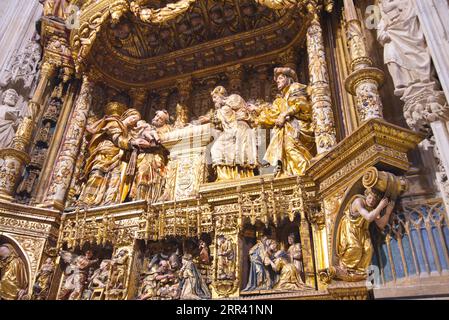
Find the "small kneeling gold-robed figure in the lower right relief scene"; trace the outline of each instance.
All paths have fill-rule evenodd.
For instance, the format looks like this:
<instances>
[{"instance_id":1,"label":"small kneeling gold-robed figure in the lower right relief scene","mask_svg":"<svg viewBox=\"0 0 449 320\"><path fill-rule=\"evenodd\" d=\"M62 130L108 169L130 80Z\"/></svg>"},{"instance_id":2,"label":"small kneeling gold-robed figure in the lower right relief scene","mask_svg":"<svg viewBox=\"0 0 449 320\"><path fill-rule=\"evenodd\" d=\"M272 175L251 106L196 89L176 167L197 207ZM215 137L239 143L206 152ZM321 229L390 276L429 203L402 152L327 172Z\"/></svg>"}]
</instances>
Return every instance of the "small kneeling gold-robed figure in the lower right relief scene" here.
<instances>
[{"instance_id":1,"label":"small kneeling gold-robed figure in the lower right relief scene","mask_svg":"<svg viewBox=\"0 0 449 320\"><path fill-rule=\"evenodd\" d=\"M274 290L311 289L302 282L300 274L287 252L279 250L274 255L274 261L269 260L269 262L277 274L276 284L273 286Z\"/></svg>"}]
</instances>

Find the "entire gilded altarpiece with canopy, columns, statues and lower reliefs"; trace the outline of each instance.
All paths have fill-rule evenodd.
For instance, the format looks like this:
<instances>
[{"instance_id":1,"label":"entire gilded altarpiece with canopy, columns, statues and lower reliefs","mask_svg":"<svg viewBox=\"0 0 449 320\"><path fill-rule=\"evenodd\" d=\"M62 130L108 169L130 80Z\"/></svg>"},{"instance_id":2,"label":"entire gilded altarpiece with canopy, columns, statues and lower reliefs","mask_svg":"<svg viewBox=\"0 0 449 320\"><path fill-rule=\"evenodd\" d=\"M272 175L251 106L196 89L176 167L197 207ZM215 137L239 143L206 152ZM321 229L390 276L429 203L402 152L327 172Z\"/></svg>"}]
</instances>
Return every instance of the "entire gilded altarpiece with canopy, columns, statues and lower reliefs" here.
<instances>
[{"instance_id":1,"label":"entire gilded altarpiece with canopy, columns, statues and lower reliefs","mask_svg":"<svg viewBox=\"0 0 449 320\"><path fill-rule=\"evenodd\" d=\"M39 85L0 152L20 298L368 299L447 280L442 200L408 188L425 137L383 118L353 1L74 0L74 29L44 2Z\"/></svg>"}]
</instances>

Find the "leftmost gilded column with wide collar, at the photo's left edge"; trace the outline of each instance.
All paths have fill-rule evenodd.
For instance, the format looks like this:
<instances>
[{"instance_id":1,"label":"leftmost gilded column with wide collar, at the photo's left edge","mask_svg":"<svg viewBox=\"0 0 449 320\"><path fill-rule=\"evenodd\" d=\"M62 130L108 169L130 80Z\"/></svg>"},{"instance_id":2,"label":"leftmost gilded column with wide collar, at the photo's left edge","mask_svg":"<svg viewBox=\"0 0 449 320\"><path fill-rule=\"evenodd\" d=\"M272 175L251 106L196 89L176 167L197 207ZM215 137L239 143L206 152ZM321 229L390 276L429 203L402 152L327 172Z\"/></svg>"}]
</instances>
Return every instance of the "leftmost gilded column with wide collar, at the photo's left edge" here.
<instances>
[{"instance_id":1,"label":"leftmost gilded column with wide collar, at the photo's left edge","mask_svg":"<svg viewBox=\"0 0 449 320\"><path fill-rule=\"evenodd\" d=\"M28 116L23 119L17 128L11 148L0 150L0 158L3 159L0 170L0 198L12 199L23 166L30 161L27 149L31 143L47 86L55 73L56 66L54 64L49 61L42 64L39 83L33 98L28 103Z\"/></svg>"}]
</instances>

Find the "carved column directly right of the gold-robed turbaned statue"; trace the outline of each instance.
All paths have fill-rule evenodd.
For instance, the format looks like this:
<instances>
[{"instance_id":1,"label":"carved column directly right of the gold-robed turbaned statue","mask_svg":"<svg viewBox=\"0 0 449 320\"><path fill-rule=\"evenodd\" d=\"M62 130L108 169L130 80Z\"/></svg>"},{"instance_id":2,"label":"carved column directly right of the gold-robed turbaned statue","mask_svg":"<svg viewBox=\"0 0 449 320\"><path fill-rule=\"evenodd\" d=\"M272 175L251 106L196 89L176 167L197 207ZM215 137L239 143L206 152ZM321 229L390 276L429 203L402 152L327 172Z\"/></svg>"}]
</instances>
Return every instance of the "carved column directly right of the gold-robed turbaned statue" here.
<instances>
[{"instance_id":1,"label":"carved column directly right of the gold-robed turbaned statue","mask_svg":"<svg viewBox=\"0 0 449 320\"><path fill-rule=\"evenodd\" d=\"M315 125L317 154L321 155L337 144L337 136L323 44L323 30L318 16L319 11L314 6L309 6L308 10L313 14L312 22L307 30L312 115Z\"/></svg>"}]
</instances>

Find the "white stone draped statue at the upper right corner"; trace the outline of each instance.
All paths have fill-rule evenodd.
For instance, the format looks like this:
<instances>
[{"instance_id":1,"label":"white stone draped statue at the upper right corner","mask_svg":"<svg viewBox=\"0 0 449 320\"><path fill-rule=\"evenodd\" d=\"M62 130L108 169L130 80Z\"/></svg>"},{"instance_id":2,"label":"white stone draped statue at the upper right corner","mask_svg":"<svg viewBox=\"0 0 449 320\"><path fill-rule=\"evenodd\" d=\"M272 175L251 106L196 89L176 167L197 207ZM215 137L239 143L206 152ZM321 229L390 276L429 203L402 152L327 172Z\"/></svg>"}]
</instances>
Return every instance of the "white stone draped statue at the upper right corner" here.
<instances>
[{"instance_id":1,"label":"white stone draped statue at the upper right corner","mask_svg":"<svg viewBox=\"0 0 449 320\"><path fill-rule=\"evenodd\" d=\"M431 58L415 6L410 0L382 0L377 38L393 78L395 94L410 85L431 82Z\"/></svg>"}]
</instances>

